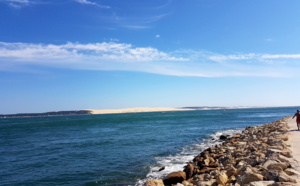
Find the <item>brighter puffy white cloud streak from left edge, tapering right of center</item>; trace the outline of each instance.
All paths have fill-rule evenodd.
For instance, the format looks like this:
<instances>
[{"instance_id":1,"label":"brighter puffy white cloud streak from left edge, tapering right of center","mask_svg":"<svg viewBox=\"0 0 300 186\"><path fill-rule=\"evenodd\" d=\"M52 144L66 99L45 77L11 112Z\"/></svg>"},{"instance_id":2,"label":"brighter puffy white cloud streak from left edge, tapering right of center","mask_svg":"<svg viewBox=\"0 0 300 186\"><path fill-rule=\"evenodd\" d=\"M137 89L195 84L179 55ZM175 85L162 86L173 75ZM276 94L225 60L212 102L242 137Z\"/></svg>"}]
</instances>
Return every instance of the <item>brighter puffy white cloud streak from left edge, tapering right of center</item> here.
<instances>
[{"instance_id":1,"label":"brighter puffy white cloud streak from left edge, tapering right of center","mask_svg":"<svg viewBox=\"0 0 300 186\"><path fill-rule=\"evenodd\" d=\"M157 60L184 61L184 58L176 58L155 48L132 47L124 43L67 43L63 45L43 45L28 43L0 42L0 57L15 61L40 61L60 58L68 61L78 61L82 58L95 60L114 60L118 62L141 62Z\"/></svg>"}]
</instances>

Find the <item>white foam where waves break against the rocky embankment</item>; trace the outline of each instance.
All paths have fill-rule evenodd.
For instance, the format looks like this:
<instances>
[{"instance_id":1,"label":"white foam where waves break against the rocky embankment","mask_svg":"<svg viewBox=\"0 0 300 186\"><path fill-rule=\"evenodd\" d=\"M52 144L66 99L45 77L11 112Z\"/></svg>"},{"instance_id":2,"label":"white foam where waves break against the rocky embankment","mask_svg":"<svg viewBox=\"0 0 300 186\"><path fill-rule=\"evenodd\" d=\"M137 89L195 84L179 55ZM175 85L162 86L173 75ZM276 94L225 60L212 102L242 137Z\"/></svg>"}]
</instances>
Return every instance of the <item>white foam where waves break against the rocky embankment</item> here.
<instances>
[{"instance_id":1,"label":"white foam where waves break against the rocky embankment","mask_svg":"<svg viewBox=\"0 0 300 186\"><path fill-rule=\"evenodd\" d=\"M215 134L209 135L209 139L202 139L201 143L194 143L183 147L182 150L175 155L156 157L156 164L150 166L150 172L146 175L146 178L138 180L135 186L143 185L147 180L162 179L171 172L182 171L186 163L192 161L194 157L199 155L202 151L221 144L223 142L219 140L221 135L233 136L241 131L242 129L218 131ZM198 141L200 140L198 139ZM165 169L158 171L163 166L165 166Z\"/></svg>"}]
</instances>

